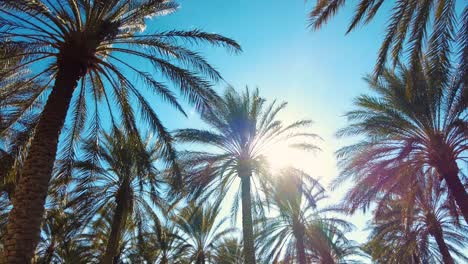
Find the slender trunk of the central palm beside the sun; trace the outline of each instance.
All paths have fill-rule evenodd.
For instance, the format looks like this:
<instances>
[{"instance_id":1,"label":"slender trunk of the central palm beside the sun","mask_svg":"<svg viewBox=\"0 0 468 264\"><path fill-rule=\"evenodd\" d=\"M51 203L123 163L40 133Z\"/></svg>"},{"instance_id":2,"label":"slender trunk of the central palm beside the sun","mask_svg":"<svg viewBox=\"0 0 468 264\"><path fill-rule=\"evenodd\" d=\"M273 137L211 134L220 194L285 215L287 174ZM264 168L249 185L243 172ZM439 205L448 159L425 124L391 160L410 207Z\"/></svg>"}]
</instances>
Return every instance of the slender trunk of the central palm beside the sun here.
<instances>
[{"instance_id":1,"label":"slender trunk of the central palm beside the sun","mask_svg":"<svg viewBox=\"0 0 468 264\"><path fill-rule=\"evenodd\" d=\"M250 194L250 170L240 170L242 195L242 232L244 238L244 263L255 264L255 247L252 224L252 198Z\"/></svg>"}]
</instances>

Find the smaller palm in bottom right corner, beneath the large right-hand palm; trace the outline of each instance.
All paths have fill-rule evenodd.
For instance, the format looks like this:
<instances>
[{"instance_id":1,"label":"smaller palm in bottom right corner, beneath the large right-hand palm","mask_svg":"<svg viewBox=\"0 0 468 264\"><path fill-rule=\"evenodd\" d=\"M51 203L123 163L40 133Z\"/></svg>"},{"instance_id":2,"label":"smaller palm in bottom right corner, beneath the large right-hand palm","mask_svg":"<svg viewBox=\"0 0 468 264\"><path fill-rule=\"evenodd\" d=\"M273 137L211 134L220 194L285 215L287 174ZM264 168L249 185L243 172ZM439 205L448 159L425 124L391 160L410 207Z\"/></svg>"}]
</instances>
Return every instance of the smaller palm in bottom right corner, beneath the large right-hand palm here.
<instances>
[{"instance_id":1,"label":"smaller palm in bottom right corner, beneath the large right-hand palm","mask_svg":"<svg viewBox=\"0 0 468 264\"><path fill-rule=\"evenodd\" d=\"M453 201L447 199L446 187L437 175L420 172L415 178L406 178L374 198L373 234L367 245L371 255L383 262L407 259L410 263L417 259L423 263L455 263L452 255L465 260L462 250L467 225L460 221ZM372 191L364 185L352 189L358 188Z\"/></svg>"}]
</instances>

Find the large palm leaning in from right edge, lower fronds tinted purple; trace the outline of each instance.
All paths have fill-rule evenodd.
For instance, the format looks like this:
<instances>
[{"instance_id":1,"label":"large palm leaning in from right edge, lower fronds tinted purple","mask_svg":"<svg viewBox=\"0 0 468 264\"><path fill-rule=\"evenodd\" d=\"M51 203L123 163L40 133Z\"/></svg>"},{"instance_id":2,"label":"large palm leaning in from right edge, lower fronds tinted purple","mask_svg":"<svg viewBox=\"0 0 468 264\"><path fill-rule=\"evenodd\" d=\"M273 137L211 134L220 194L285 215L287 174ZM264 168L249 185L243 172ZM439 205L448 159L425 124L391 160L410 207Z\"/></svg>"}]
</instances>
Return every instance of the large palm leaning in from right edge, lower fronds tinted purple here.
<instances>
[{"instance_id":1,"label":"large palm leaning in from right edge, lower fronds tinted purple","mask_svg":"<svg viewBox=\"0 0 468 264\"><path fill-rule=\"evenodd\" d=\"M356 109L346 114L351 124L338 132L364 136L337 152L342 172L336 183L353 179L358 186L370 187L367 193L348 193L350 211L367 207L369 203L360 200L372 201L380 191L392 190L422 170L445 181L468 219L468 194L459 169L467 161L466 93L459 84L438 77L425 67L413 83L410 71L401 66L399 71L386 70L380 80L367 79L375 95L358 97Z\"/></svg>"}]
</instances>

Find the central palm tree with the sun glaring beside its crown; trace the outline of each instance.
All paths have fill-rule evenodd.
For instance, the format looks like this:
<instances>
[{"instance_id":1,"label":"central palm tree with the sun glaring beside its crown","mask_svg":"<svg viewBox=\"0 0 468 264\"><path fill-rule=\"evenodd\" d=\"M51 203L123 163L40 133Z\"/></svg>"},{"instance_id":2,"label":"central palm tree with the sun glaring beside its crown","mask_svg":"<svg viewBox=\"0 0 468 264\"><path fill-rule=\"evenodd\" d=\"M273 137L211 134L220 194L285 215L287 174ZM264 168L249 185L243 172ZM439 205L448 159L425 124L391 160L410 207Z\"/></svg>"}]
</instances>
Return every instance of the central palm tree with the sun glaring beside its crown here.
<instances>
[{"instance_id":1,"label":"central palm tree with the sun glaring beside its crown","mask_svg":"<svg viewBox=\"0 0 468 264\"><path fill-rule=\"evenodd\" d=\"M246 88L244 93L239 94L233 88L228 88L212 111L202 116L211 130L182 129L176 133L182 142L200 143L213 149L211 153L188 154L190 173L187 179L193 186L192 190L206 191L211 188L225 195L236 176L239 177L246 264L255 263L251 182L263 182L260 175L265 171L266 164L262 154L280 141L316 137L315 134L299 131L311 124L309 120L296 121L290 125L284 125L278 120L277 114L285 107L286 103L277 105L276 101L265 106L258 89L251 92ZM309 142L290 142L293 147L316 149Z\"/></svg>"}]
</instances>

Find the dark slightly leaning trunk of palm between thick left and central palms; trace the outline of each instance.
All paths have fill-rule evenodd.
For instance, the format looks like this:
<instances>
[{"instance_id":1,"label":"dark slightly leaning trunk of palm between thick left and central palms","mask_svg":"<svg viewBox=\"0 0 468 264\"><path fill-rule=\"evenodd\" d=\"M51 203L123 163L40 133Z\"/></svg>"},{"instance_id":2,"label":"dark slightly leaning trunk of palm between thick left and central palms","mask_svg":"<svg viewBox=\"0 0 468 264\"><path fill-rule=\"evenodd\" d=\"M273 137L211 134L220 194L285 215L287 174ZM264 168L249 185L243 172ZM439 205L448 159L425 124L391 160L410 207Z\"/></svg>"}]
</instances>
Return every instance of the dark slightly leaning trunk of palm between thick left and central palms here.
<instances>
[{"instance_id":1,"label":"dark slightly leaning trunk of palm between thick left and central palms","mask_svg":"<svg viewBox=\"0 0 468 264\"><path fill-rule=\"evenodd\" d=\"M106 252L102 259L103 264L113 264L119 255L119 242L122 236L122 230L125 228L129 210L130 185L126 178L117 192L114 216L112 217L111 233L107 241Z\"/></svg>"}]
</instances>

